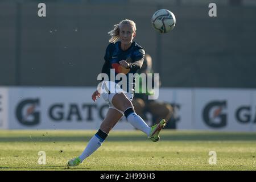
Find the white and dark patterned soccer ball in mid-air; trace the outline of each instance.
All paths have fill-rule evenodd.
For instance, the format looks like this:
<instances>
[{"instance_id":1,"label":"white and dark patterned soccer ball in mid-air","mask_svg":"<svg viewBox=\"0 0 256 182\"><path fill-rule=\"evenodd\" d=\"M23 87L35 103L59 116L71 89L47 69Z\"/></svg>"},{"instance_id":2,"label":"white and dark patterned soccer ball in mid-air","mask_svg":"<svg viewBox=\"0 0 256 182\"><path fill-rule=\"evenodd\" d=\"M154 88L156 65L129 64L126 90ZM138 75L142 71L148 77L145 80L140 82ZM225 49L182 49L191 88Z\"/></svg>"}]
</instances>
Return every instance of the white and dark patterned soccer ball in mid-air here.
<instances>
[{"instance_id":1,"label":"white and dark patterned soccer ball in mid-air","mask_svg":"<svg viewBox=\"0 0 256 182\"><path fill-rule=\"evenodd\" d=\"M176 18L171 11L162 9L154 13L151 22L155 30L163 34L174 29Z\"/></svg>"}]
</instances>

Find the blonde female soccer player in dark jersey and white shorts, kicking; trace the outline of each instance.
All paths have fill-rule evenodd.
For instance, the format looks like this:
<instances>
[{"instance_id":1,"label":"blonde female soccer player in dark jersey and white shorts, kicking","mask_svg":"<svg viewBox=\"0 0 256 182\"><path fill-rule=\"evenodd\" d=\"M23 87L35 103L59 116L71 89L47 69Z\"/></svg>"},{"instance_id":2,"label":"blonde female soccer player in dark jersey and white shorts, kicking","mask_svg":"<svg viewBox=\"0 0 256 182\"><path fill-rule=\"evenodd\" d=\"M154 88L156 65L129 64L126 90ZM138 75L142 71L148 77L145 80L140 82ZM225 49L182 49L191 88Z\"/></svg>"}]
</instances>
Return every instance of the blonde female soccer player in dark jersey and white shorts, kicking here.
<instances>
[{"instance_id":1,"label":"blonde female soccer player in dark jersey and white shorts, kicking","mask_svg":"<svg viewBox=\"0 0 256 182\"><path fill-rule=\"evenodd\" d=\"M97 89L92 94L92 100L96 101L97 97L102 95L104 100L109 104L108 113L101 123L98 132L90 139L84 152L79 157L69 160L69 166L79 165L84 159L96 151L106 137L108 137L109 131L112 130L123 114L131 125L143 131L153 142L159 140L159 132L166 125L166 121L162 119L158 125L149 127L135 113L131 102L133 100L135 78L133 77L133 80L129 80L128 74L136 73L138 69L141 69L145 55L144 49L133 42L136 35L135 23L128 19L122 20L119 24L115 24L114 29L108 32L108 34L111 38L109 40L110 44L106 48L102 73L106 73L109 78L113 70L115 75L118 73L126 75L127 88L129 89L123 90L121 86L117 85L120 80L104 80L101 82L102 85L100 88L105 92L102 93L101 90Z\"/></svg>"}]
</instances>

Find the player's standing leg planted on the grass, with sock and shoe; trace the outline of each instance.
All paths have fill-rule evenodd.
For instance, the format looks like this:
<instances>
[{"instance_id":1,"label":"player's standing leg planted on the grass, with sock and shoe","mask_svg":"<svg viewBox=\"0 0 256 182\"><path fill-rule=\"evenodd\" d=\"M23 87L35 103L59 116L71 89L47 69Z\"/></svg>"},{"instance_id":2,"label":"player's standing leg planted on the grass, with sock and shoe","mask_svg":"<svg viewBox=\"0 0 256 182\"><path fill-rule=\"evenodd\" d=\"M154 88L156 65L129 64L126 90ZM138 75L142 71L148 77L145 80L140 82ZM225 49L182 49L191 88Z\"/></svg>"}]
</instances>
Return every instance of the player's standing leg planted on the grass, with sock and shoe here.
<instances>
[{"instance_id":1,"label":"player's standing leg planted on the grass, with sock and shoe","mask_svg":"<svg viewBox=\"0 0 256 182\"><path fill-rule=\"evenodd\" d=\"M84 152L79 157L69 160L68 166L78 166L84 159L93 154L101 146L106 137L108 137L109 131L112 130L122 116L122 113L110 108L106 114L106 118L101 123L100 130L90 139Z\"/></svg>"}]
</instances>

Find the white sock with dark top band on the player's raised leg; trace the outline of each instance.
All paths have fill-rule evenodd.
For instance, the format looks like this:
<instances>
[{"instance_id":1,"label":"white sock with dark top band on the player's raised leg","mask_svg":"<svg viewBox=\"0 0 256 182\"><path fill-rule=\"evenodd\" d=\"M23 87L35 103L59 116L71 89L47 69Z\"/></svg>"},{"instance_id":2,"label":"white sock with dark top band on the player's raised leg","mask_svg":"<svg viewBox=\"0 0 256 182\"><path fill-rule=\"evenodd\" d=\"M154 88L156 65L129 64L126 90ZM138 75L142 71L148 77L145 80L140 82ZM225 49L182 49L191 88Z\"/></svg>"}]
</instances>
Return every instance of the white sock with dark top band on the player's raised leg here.
<instances>
[{"instance_id":1,"label":"white sock with dark top band on the player's raised leg","mask_svg":"<svg viewBox=\"0 0 256 182\"><path fill-rule=\"evenodd\" d=\"M143 131L147 135L147 137L149 137L151 127L149 127L147 123L144 122L143 119L138 114L135 113L132 107L126 109L125 111L129 109L130 109L129 114L125 113L126 115L128 115L128 117L126 117L128 122L131 123L131 125L133 125L138 130ZM133 109L133 111L131 111L131 109Z\"/></svg>"}]
</instances>

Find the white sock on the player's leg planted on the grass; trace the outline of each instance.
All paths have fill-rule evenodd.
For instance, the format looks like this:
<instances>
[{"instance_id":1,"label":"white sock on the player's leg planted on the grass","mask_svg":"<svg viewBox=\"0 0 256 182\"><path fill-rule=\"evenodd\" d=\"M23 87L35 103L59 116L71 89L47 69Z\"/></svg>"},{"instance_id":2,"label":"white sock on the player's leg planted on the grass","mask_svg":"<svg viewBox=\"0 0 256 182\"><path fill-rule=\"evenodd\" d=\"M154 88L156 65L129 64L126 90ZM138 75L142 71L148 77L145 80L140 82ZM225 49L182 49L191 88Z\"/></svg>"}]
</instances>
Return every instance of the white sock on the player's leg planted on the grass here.
<instances>
[{"instance_id":1,"label":"white sock on the player's leg planted on the grass","mask_svg":"<svg viewBox=\"0 0 256 182\"><path fill-rule=\"evenodd\" d=\"M88 158L93 152L95 152L98 147L104 142L105 139L100 138L97 134L95 134L89 141L88 145L86 146L85 150L79 156L81 162Z\"/></svg>"}]
</instances>

